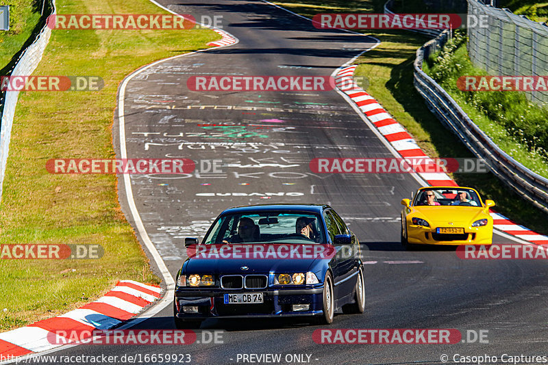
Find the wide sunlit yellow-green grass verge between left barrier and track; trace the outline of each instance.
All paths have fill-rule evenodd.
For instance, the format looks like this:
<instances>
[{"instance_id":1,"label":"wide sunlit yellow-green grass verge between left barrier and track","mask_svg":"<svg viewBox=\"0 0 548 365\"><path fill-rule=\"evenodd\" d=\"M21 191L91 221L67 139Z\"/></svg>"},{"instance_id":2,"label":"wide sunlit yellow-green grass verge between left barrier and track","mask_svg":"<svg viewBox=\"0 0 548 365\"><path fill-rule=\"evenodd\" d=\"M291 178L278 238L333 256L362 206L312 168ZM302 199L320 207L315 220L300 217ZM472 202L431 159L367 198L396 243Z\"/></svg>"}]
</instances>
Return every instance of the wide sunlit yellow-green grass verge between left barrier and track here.
<instances>
[{"instance_id":1,"label":"wide sunlit yellow-green grass verge between left barrier and track","mask_svg":"<svg viewBox=\"0 0 548 365\"><path fill-rule=\"evenodd\" d=\"M59 14L163 14L146 0L58 0ZM118 280L158 283L121 213L112 175L52 175L52 158L114 157L123 78L157 59L208 48L192 30L53 30L34 75L92 75L99 92L21 92L0 203L0 244L99 244L99 260L1 260L0 331L67 312ZM5 311L3 309L6 308Z\"/></svg>"}]
</instances>

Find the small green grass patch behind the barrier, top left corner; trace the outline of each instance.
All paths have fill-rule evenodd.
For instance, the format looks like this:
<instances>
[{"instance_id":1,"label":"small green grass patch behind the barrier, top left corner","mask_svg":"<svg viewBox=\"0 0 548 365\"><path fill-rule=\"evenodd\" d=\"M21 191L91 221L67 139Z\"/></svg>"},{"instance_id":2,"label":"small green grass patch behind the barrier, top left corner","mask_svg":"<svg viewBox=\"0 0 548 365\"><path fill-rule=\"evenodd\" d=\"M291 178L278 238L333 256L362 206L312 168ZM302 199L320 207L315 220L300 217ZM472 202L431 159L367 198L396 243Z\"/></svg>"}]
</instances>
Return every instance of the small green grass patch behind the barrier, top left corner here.
<instances>
[{"instance_id":1,"label":"small green grass patch behind the barrier, top left corner","mask_svg":"<svg viewBox=\"0 0 548 365\"><path fill-rule=\"evenodd\" d=\"M41 1L5 0L1 5L10 5L10 30L0 31L0 70L3 70L35 30L40 21Z\"/></svg>"}]
</instances>

